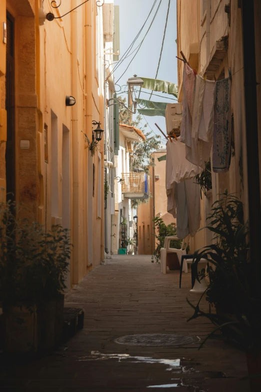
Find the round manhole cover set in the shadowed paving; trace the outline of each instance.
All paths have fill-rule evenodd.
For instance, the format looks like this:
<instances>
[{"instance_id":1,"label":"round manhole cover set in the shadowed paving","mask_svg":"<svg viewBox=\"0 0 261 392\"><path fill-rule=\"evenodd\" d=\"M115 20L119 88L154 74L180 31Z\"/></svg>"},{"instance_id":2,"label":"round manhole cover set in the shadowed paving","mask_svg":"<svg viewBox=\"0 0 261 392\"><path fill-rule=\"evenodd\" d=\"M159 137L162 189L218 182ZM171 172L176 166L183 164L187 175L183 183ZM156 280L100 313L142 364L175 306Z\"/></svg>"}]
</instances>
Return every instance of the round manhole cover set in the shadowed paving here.
<instances>
[{"instance_id":1,"label":"round manhole cover set in the shadowed paving","mask_svg":"<svg viewBox=\"0 0 261 392\"><path fill-rule=\"evenodd\" d=\"M142 333L121 336L114 341L119 344L127 344L130 346L176 347L197 343L199 340L198 336L172 335L170 333Z\"/></svg>"}]
</instances>

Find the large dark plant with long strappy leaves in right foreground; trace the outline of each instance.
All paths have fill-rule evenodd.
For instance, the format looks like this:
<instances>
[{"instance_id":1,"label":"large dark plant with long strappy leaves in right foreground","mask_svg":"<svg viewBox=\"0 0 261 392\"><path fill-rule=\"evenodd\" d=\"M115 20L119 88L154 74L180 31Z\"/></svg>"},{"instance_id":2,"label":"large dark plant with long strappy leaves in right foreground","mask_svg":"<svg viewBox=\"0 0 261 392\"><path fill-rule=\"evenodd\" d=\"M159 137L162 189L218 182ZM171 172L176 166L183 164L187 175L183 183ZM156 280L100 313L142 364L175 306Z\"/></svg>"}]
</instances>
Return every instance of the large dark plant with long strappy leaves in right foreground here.
<instances>
[{"instance_id":1,"label":"large dark plant with long strappy leaves in right foreground","mask_svg":"<svg viewBox=\"0 0 261 392\"><path fill-rule=\"evenodd\" d=\"M194 309L190 319L207 317L213 322L215 328L206 339L226 338L244 350L260 350L261 295L248 259L248 224L243 221L243 204L225 191L213 204L208 220L207 228L215 234L216 243L197 250L191 268L199 280L197 263L202 257L207 259L206 300L216 306L217 314L199 309L202 295L196 306L188 301Z\"/></svg>"}]
</instances>

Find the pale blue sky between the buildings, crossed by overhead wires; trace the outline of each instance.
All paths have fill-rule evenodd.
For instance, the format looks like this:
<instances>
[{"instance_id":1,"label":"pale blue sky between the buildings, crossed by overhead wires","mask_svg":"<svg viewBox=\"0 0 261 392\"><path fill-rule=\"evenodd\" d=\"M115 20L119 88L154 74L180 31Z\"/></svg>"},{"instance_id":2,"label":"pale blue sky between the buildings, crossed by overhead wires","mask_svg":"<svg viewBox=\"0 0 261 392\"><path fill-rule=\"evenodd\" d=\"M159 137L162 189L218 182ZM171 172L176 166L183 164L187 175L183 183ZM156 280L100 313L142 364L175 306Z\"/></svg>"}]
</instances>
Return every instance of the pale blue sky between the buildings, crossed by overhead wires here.
<instances>
[{"instance_id":1,"label":"pale blue sky between the buildings, crossed by overhead wires","mask_svg":"<svg viewBox=\"0 0 261 392\"><path fill-rule=\"evenodd\" d=\"M156 12L157 6L160 0L156 0L156 4L152 10L152 13L143 27L137 41L135 42L131 52L138 46L138 44L144 38L146 31L153 19ZM114 0L114 5L119 6L119 31L120 31L120 56L125 53L129 45L132 43L133 39L138 34L142 25L144 24L149 11L154 3L154 0ZM117 84L123 86L126 84L128 78L131 78L134 74L143 78L155 78L157 64L160 55L160 49L162 45L166 15L167 15L168 0L161 0L158 13L154 19L154 22L149 29L137 55L129 65L127 71L123 76L123 72L127 68L129 62L134 56L135 52L126 58L114 71L115 82L119 79ZM163 51L161 55L161 61L159 65L159 70L157 74L157 79L165 80L168 82L173 82L177 84L177 67L176 67L176 0L170 0L168 21L163 45ZM130 52L130 53L131 53ZM117 63L115 63L114 67ZM116 86L119 89L119 86ZM150 90L144 90L144 92L149 93ZM171 95L162 94L156 92L155 94L162 96L151 97L151 101L174 103L175 101L167 99L174 98ZM121 94L122 97L127 98L127 94ZM140 98L149 99L149 94L142 93ZM134 118L134 116L133 116ZM165 118L162 116L148 117L145 116L145 120L148 122L149 126L152 128L153 132L157 135L162 135L154 125L157 123L158 126L165 132ZM146 123L143 119L143 125ZM150 130L147 126L146 131ZM164 138L162 137L162 143Z\"/></svg>"}]
</instances>

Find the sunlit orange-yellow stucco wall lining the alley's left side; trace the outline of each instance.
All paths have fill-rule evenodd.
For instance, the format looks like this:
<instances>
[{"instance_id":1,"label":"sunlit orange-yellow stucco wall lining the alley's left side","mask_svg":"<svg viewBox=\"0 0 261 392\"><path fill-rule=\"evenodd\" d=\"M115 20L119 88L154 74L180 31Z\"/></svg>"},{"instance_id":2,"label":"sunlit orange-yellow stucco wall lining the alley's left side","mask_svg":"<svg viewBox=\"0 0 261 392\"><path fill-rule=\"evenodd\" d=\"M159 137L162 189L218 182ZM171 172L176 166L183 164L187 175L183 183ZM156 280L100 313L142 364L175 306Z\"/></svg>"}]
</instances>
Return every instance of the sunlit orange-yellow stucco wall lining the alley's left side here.
<instances>
[{"instance_id":1,"label":"sunlit orange-yellow stucco wall lining the alley's left side","mask_svg":"<svg viewBox=\"0 0 261 392\"><path fill-rule=\"evenodd\" d=\"M55 10L50 3L44 2L44 11L55 17L78 5L76 0L61 2ZM102 9L89 0L63 18L39 26L40 4L39 0L0 2L0 22L5 21L7 9L15 27L15 199L47 229L54 223L71 230L67 281L71 286L104 254L103 140L92 158L84 137L85 133L91 140L92 120L103 127ZM5 185L5 50L0 39L0 189ZM73 107L65 106L67 95L74 96ZM20 149L21 140L29 141L29 149Z\"/></svg>"}]
</instances>

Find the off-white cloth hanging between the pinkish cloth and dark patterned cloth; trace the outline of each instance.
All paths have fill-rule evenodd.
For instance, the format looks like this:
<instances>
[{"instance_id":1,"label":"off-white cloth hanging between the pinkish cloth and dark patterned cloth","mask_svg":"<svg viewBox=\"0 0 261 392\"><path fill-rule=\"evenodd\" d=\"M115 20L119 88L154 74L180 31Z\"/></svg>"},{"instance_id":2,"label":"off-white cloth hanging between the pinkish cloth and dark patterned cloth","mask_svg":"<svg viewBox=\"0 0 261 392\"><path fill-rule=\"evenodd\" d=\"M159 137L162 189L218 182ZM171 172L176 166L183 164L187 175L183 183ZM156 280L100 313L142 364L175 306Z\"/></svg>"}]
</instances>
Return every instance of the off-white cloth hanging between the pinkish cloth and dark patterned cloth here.
<instances>
[{"instance_id":1,"label":"off-white cloth hanging between the pinkish cloth and dark patterned cloth","mask_svg":"<svg viewBox=\"0 0 261 392\"><path fill-rule=\"evenodd\" d=\"M191 146L186 146L186 159L201 170L209 160L212 147L214 94L215 82L196 75Z\"/></svg>"}]
</instances>

